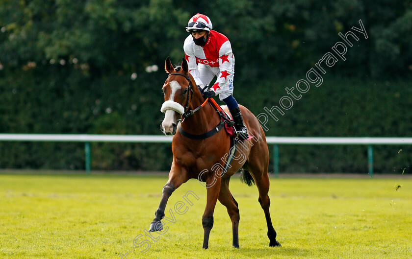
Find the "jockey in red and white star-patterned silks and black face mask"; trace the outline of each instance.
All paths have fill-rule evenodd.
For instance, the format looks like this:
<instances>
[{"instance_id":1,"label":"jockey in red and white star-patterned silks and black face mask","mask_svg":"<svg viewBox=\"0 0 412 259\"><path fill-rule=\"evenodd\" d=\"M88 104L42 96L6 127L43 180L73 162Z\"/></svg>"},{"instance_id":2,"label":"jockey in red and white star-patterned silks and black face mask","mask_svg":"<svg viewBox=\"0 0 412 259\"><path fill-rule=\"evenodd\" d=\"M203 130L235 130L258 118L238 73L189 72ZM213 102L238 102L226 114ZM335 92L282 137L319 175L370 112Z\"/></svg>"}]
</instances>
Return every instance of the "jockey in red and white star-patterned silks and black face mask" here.
<instances>
[{"instance_id":1,"label":"jockey in red and white star-patterned silks and black face mask","mask_svg":"<svg viewBox=\"0 0 412 259\"><path fill-rule=\"evenodd\" d=\"M231 43L225 35L212 30L212 22L203 14L190 18L184 41L184 56L195 82L202 89L216 76L216 83L203 94L206 99L219 95L228 106L236 133L241 140L248 139L248 131L233 94L234 56Z\"/></svg>"}]
</instances>

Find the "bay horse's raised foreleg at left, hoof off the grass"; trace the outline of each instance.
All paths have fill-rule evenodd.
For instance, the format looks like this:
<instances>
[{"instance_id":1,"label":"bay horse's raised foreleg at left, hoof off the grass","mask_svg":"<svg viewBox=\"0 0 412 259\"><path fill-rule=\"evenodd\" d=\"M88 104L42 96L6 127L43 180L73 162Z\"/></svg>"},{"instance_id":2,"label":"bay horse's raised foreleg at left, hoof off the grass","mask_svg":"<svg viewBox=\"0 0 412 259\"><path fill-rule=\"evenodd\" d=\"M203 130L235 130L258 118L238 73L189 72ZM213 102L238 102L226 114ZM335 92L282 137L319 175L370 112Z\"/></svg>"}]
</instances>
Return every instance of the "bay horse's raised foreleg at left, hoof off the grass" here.
<instances>
[{"instance_id":1,"label":"bay horse's raised foreleg at left, hoof off the grass","mask_svg":"<svg viewBox=\"0 0 412 259\"><path fill-rule=\"evenodd\" d=\"M181 184L187 182L187 180L188 177L186 169L175 165L175 163L172 163L172 168L169 172L169 180L163 187L160 204L156 212L154 212L154 219L150 224L149 232L161 231L163 229L163 225L160 220L164 217L167 200L169 199L170 195L172 195L173 191L177 189Z\"/></svg>"}]
</instances>

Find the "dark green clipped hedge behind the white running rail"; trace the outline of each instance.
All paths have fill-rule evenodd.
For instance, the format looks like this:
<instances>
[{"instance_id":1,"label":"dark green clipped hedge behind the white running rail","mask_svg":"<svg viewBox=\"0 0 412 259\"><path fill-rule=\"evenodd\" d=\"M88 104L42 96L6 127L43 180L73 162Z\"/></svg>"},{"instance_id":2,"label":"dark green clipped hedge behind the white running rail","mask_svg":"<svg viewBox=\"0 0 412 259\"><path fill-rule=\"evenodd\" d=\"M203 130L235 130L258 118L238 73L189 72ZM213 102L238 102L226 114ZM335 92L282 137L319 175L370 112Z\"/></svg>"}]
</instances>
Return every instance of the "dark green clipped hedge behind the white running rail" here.
<instances>
[{"instance_id":1,"label":"dark green clipped hedge behind the white running rail","mask_svg":"<svg viewBox=\"0 0 412 259\"><path fill-rule=\"evenodd\" d=\"M0 79L1 132L161 134L160 86L165 73L134 81L112 76L90 82L78 74L60 82L53 78L52 74L24 72ZM265 113L264 107L279 106L279 100L287 95L285 88L301 79L276 78L253 85L235 80L234 96L255 115ZM310 85L283 116L277 114L278 121L269 117L266 135L410 137L411 94L410 82L405 79L381 81L326 74L319 87ZM366 146L281 145L279 150L281 172L367 171ZM375 171L400 173L406 168L405 173L410 172L411 151L409 146L375 146ZM92 144L93 169L168 170L171 156L170 144ZM0 158L1 168L83 169L84 146L1 142ZM272 165L269 170L273 170Z\"/></svg>"}]
</instances>

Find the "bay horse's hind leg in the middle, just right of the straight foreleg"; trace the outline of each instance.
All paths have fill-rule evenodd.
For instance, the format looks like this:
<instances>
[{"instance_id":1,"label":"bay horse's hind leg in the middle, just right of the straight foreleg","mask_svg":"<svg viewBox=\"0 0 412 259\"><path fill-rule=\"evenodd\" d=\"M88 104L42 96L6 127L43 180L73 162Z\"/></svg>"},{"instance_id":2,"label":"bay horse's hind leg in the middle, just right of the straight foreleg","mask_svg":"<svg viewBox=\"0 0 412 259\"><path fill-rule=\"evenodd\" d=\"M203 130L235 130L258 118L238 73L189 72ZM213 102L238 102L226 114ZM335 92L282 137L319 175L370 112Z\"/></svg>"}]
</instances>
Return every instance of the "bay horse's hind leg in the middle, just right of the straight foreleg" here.
<instances>
[{"instance_id":1,"label":"bay horse's hind leg in the middle, just right of the straight foreleg","mask_svg":"<svg viewBox=\"0 0 412 259\"><path fill-rule=\"evenodd\" d=\"M218 199L220 203L228 209L228 214L232 221L232 246L239 248L239 208L237 206L237 202L232 196L231 191L229 190L229 181L230 178L222 179Z\"/></svg>"}]
</instances>

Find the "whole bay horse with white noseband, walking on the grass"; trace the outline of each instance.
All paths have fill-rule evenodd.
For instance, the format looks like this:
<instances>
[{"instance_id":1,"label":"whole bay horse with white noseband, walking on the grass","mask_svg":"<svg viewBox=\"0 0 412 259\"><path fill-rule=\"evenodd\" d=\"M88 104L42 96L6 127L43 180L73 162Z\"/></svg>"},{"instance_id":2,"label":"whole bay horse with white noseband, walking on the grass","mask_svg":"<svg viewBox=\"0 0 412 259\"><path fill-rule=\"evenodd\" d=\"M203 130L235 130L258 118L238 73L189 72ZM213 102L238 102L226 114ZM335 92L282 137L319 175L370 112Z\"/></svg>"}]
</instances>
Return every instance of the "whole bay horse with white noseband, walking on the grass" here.
<instances>
[{"instance_id":1,"label":"whole bay horse with white noseband, walking on the grass","mask_svg":"<svg viewBox=\"0 0 412 259\"><path fill-rule=\"evenodd\" d=\"M232 246L239 248L239 208L229 190L229 181L231 176L242 168L245 182L249 186L254 182L258 187L258 201L266 218L269 246L280 246L281 244L276 240L276 231L269 213L269 177L267 174L269 150L265 134L257 118L248 109L239 105L249 135L254 138L239 141L232 162L228 170L224 172L223 167L226 163L223 158L229 154L231 139L225 130L214 130L221 121L220 116L213 106L204 100L200 90L196 87L192 75L188 72L185 59L182 59L180 67L174 68L168 57L165 61L165 70L169 76L162 88L165 102L161 111L165 113L165 117L161 128L166 135L174 135L172 140L173 162L149 232L163 229L159 221L165 215L166 203L170 195L181 184L195 178L206 182L207 189L206 209L202 216L203 248L208 248L217 200L227 208L232 221ZM226 106L222 108L228 112ZM180 123L178 123L179 120Z\"/></svg>"}]
</instances>

